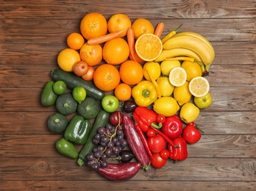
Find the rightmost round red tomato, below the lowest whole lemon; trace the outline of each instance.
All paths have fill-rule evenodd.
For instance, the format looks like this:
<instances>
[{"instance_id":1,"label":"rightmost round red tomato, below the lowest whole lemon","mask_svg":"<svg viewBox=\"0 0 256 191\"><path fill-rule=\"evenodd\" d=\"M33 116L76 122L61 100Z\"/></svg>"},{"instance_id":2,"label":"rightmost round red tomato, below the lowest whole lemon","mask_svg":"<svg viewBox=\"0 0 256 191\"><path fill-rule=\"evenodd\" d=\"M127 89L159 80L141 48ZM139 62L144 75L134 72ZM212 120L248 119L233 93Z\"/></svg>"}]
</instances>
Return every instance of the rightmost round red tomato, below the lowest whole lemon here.
<instances>
[{"instance_id":1,"label":"rightmost round red tomato, below the lowest whole lemon","mask_svg":"<svg viewBox=\"0 0 256 191\"><path fill-rule=\"evenodd\" d=\"M201 139L201 131L193 125L185 126L182 137L190 144L197 143Z\"/></svg>"}]
</instances>

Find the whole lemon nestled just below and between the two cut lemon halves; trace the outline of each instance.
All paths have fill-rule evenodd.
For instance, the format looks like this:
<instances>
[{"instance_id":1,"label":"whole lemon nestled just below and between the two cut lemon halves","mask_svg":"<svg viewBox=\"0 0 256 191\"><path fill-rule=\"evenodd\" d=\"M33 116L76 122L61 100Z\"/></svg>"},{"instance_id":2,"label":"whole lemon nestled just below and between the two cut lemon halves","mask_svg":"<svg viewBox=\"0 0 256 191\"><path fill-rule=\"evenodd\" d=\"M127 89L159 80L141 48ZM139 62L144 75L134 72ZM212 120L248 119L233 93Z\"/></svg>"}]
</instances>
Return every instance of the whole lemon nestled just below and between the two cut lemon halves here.
<instances>
[{"instance_id":1,"label":"whole lemon nestled just below and between the two cut lemon halves","mask_svg":"<svg viewBox=\"0 0 256 191\"><path fill-rule=\"evenodd\" d=\"M192 94L188 89L188 84L189 82L185 82L182 86L174 87L174 98L180 106L191 100Z\"/></svg>"}]
</instances>

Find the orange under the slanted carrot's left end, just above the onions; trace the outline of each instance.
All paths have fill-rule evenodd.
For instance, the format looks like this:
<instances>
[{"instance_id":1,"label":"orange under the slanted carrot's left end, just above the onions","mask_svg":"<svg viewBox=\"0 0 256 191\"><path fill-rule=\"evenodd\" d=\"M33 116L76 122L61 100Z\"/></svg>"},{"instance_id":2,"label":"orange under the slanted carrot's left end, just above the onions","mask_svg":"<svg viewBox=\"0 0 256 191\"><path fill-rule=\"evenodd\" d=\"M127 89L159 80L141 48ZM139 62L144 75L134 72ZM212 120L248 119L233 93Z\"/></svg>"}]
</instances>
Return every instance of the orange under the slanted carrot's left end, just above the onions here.
<instances>
[{"instance_id":1,"label":"orange under the slanted carrot's left end, just above the onions","mask_svg":"<svg viewBox=\"0 0 256 191\"><path fill-rule=\"evenodd\" d=\"M100 45L88 45L88 43L85 43L80 48L79 53L81 60L90 66L98 65L102 62L102 46Z\"/></svg>"}]
</instances>

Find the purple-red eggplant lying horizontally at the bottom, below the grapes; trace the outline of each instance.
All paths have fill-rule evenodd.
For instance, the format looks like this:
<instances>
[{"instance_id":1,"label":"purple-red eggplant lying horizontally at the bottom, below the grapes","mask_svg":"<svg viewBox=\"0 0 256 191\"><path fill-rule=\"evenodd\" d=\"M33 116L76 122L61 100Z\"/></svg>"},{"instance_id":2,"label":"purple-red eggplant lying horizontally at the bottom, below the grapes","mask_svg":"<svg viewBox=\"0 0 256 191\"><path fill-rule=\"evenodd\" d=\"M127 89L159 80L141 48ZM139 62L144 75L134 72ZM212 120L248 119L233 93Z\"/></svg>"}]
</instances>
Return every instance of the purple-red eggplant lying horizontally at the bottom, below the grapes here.
<instances>
[{"instance_id":1,"label":"purple-red eggplant lying horizontally at the bottom, below the grapes","mask_svg":"<svg viewBox=\"0 0 256 191\"><path fill-rule=\"evenodd\" d=\"M101 176L112 181L124 181L131 179L140 170L140 162L127 162L121 164L108 164L97 171Z\"/></svg>"}]
</instances>

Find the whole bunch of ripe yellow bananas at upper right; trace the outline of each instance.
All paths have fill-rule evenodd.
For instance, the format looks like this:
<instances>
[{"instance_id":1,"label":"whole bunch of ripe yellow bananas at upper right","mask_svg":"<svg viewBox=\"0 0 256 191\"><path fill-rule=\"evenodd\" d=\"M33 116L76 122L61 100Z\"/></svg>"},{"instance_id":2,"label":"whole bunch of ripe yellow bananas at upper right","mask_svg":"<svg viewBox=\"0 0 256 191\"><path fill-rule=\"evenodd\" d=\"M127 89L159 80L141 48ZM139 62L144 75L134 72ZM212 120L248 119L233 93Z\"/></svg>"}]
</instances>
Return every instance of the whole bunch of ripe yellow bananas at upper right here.
<instances>
[{"instance_id":1,"label":"whole bunch of ripe yellow bananas at upper right","mask_svg":"<svg viewBox=\"0 0 256 191\"><path fill-rule=\"evenodd\" d=\"M190 60L202 68L202 75L207 76L213 63L215 51L212 44L196 32L172 33L162 39L163 51L155 62L163 60Z\"/></svg>"}]
</instances>

